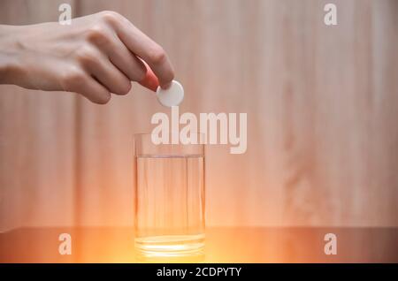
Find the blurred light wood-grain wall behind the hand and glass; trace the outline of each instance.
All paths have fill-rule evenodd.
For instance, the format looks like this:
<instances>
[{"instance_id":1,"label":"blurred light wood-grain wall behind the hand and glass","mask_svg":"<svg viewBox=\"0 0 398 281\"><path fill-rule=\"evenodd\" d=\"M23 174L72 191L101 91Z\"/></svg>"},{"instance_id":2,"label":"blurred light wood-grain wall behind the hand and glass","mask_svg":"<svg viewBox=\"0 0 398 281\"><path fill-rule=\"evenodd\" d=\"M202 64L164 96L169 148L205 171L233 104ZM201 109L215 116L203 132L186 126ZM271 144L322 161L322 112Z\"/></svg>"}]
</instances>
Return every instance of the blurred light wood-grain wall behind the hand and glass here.
<instances>
[{"instance_id":1,"label":"blurred light wood-grain wall behind the hand and glass","mask_svg":"<svg viewBox=\"0 0 398 281\"><path fill-rule=\"evenodd\" d=\"M65 2L2 0L0 22L55 21ZM180 112L248 113L246 154L207 149L208 225L398 226L398 1L69 3L163 45ZM132 136L158 111L136 85L106 106L0 86L0 231L133 224Z\"/></svg>"}]
</instances>

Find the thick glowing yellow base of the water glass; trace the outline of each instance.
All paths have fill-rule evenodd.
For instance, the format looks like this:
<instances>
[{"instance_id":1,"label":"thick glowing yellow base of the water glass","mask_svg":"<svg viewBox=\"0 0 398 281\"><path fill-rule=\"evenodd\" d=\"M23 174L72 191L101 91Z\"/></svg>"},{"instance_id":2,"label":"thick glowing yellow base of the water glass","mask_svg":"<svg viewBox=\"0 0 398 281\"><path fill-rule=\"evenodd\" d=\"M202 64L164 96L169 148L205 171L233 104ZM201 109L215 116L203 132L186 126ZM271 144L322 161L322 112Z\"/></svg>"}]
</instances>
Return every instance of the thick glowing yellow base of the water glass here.
<instances>
[{"instance_id":1,"label":"thick glowing yellow base of the water glass","mask_svg":"<svg viewBox=\"0 0 398 281\"><path fill-rule=\"evenodd\" d=\"M204 234L163 235L134 239L140 262L203 262Z\"/></svg>"}]
</instances>

